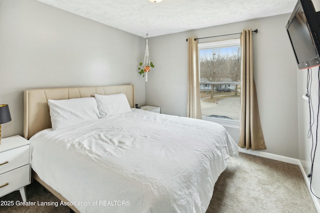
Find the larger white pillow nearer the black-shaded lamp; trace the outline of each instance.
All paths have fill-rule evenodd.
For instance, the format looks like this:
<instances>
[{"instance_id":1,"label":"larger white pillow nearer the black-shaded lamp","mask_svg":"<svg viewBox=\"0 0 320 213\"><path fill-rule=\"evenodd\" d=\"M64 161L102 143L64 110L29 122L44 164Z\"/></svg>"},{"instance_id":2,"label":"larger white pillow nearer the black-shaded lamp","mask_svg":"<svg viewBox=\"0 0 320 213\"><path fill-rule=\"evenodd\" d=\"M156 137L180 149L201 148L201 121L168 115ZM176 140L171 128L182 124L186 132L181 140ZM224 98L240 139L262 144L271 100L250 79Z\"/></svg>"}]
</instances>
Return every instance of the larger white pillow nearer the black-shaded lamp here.
<instances>
[{"instance_id":1,"label":"larger white pillow nearer the black-shaded lamp","mask_svg":"<svg viewBox=\"0 0 320 213\"><path fill-rule=\"evenodd\" d=\"M66 100L49 99L48 105L53 130L99 118L99 111L93 97Z\"/></svg>"}]
</instances>

